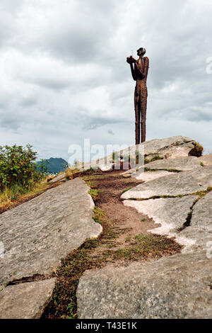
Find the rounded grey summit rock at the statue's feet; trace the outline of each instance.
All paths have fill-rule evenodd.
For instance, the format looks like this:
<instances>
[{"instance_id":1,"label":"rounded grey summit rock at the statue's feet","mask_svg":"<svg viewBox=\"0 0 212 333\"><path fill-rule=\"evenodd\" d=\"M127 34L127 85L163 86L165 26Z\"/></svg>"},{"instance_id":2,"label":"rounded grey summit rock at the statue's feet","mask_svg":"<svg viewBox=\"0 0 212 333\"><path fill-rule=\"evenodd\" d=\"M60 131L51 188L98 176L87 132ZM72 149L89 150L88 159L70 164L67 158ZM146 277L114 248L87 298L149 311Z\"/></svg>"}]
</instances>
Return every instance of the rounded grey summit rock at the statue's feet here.
<instances>
[{"instance_id":1,"label":"rounded grey summit rock at the statue's feet","mask_svg":"<svg viewBox=\"0 0 212 333\"><path fill-rule=\"evenodd\" d=\"M114 150L119 153L122 151L122 157L126 157L126 160L128 161L129 155L131 160L136 158L136 150L139 149L140 154L150 161L153 157L158 155L163 159L188 157L192 150L195 149L196 145L198 145L198 143L190 137L182 137L179 135L176 137L167 137L165 139L149 140L140 145L131 145L122 150L115 147ZM102 157L98 161L93 160L89 163L85 163L83 168L89 169L91 166L94 169L99 167L102 171L107 171L112 169L113 165L113 156L110 154L107 157Z\"/></svg>"}]
</instances>

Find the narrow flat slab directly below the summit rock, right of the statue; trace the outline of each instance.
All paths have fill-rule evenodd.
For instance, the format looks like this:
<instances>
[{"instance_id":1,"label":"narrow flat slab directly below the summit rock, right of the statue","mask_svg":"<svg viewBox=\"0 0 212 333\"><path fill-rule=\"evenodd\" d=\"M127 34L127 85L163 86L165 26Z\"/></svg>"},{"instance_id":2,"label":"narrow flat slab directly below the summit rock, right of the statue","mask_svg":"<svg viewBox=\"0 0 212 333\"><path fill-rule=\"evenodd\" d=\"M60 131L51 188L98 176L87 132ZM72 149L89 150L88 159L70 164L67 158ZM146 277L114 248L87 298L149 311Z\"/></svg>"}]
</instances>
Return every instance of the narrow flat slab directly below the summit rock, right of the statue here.
<instances>
[{"instance_id":1,"label":"narrow flat slab directly below the summit rock, right of the statue","mask_svg":"<svg viewBox=\"0 0 212 333\"><path fill-rule=\"evenodd\" d=\"M189 171L196 168L201 168L200 161L197 157L189 156L176 159L160 159L158 161L150 162L145 165L150 170L177 170Z\"/></svg>"}]
</instances>

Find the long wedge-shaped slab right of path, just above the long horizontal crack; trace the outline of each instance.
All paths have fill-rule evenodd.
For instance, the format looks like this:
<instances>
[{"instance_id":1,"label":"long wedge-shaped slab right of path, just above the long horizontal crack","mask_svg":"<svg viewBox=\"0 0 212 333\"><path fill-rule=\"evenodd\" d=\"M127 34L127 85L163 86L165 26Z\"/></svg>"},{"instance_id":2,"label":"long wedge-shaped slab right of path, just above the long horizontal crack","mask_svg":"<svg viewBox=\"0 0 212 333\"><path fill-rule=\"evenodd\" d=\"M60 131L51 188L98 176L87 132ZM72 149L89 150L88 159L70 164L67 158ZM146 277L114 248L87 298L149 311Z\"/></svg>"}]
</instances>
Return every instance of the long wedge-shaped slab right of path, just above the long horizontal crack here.
<instances>
[{"instance_id":1,"label":"long wedge-shaped slab right of path, just above the long horizontal crack","mask_svg":"<svg viewBox=\"0 0 212 333\"><path fill-rule=\"evenodd\" d=\"M206 191L212 186L212 166L163 176L138 185L122 194L122 199L146 199L155 196L178 196Z\"/></svg>"}]
</instances>

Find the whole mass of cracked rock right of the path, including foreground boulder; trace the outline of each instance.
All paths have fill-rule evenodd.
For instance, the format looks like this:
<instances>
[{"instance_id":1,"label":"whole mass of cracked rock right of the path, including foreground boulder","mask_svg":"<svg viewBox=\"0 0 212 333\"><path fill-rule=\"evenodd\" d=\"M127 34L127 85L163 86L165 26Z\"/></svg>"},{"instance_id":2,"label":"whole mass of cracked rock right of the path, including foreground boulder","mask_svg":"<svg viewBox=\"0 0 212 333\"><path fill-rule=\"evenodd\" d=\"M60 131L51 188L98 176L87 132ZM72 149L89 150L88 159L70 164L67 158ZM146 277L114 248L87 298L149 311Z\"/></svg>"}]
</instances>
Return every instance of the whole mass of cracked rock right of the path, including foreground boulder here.
<instances>
[{"instance_id":1,"label":"whole mass of cracked rock right of the path, including foreground boulder","mask_svg":"<svg viewBox=\"0 0 212 333\"><path fill-rule=\"evenodd\" d=\"M86 271L80 318L212 318L212 167L187 157L148 165L137 173L145 182L122 194L124 205L153 218L160 227L150 231L175 237L182 253Z\"/></svg>"}]
</instances>

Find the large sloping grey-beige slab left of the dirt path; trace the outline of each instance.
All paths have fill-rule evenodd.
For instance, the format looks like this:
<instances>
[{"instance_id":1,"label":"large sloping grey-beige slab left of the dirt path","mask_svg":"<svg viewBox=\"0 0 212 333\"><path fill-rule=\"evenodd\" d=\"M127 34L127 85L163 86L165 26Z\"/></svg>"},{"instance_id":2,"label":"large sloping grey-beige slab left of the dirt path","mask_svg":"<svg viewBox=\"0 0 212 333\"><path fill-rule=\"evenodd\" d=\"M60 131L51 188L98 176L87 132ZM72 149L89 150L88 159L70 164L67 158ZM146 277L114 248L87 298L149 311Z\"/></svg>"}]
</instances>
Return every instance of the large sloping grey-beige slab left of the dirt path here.
<instances>
[{"instance_id":1,"label":"large sloping grey-beige slab left of the dirt path","mask_svg":"<svg viewBox=\"0 0 212 333\"><path fill-rule=\"evenodd\" d=\"M0 215L0 285L52 272L71 250L100 235L88 190L73 179Z\"/></svg>"}]
</instances>

